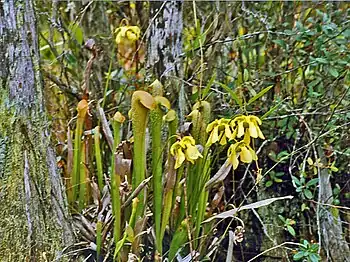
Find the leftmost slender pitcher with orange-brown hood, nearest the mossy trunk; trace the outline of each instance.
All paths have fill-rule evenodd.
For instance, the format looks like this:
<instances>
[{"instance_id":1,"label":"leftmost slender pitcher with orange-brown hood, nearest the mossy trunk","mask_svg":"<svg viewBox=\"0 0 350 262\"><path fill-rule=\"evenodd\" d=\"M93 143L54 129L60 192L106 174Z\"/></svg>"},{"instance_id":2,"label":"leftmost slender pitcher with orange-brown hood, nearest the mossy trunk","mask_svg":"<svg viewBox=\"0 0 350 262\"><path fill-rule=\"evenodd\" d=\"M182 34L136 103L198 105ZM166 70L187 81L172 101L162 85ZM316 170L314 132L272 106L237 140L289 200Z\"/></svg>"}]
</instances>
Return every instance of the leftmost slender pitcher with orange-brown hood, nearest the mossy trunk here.
<instances>
[{"instance_id":1,"label":"leftmost slender pitcher with orange-brown hood, nearest the mossy trunk","mask_svg":"<svg viewBox=\"0 0 350 262\"><path fill-rule=\"evenodd\" d=\"M79 178L79 170L80 170L80 150L81 150L81 136L83 134L83 126L85 121L85 116L88 110L88 102L85 99L82 99L78 103L78 119L77 126L75 129L75 137L74 137L74 154L73 154L73 174L72 174L72 203L74 203L77 199L78 193L78 181Z\"/></svg>"}]
</instances>

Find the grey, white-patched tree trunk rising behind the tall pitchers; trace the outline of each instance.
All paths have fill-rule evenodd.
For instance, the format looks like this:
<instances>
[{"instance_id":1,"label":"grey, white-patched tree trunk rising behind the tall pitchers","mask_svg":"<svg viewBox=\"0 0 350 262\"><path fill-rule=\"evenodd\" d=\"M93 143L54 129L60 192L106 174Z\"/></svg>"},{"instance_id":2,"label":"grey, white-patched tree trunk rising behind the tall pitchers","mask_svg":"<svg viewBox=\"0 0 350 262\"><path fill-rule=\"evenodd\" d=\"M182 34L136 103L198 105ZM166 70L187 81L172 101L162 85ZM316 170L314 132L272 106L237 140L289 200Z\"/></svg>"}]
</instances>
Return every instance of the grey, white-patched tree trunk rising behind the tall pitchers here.
<instances>
[{"instance_id":1,"label":"grey, white-patched tree trunk rising behind the tall pitchers","mask_svg":"<svg viewBox=\"0 0 350 262\"><path fill-rule=\"evenodd\" d=\"M166 97L178 101L180 122L186 114L182 53L182 1L151 1L148 71L164 85Z\"/></svg>"}]
</instances>

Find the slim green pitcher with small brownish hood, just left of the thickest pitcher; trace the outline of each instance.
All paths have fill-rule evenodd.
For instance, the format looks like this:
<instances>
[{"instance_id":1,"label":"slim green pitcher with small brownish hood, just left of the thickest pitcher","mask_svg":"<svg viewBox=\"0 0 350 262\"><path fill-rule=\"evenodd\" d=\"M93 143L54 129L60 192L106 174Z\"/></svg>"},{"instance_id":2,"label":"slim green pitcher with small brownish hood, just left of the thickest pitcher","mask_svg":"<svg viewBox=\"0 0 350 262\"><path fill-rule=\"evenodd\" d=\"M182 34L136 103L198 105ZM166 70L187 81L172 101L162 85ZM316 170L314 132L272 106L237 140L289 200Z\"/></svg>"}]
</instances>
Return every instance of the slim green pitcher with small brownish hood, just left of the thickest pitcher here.
<instances>
[{"instance_id":1,"label":"slim green pitcher with small brownish hood, just left of the thickest pitcher","mask_svg":"<svg viewBox=\"0 0 350 262\"><path fill-rule=\"evenodd\" d=\"M112 173L111 173L111 184L112 184L112 214L114 216L114 230L113 237L115 244L118 243L121 234L121 199L120 199L120 174L117 173L117 148L120 143L120 128L122 123L125 121L125 117L120 113L115 113L112 119L113 127L113 152L112 152Z\"/></svg>"}]
</instances>

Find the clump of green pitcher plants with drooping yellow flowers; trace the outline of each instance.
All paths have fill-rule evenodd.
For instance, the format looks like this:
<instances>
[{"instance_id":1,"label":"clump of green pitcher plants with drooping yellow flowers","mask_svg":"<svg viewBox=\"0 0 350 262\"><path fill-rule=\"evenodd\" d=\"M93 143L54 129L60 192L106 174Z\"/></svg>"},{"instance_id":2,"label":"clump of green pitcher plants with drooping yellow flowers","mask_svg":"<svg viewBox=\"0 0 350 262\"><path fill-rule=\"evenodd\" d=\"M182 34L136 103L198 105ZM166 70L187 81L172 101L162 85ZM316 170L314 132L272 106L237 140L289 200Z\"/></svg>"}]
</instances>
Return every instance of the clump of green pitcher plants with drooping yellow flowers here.
<instances>
[{"instance_id":1,"label":"clump of green pitcher plants with drooping yellow flowers","mask_svg":"<svg viewBox=\"0 0 350 262\"><path fill-rule=\"evenodd\" d=\"M98 103L99 122L89 133L86 128L91 126L89 118L94 110L84 99L77 107L74 144L71 143L70 151L73 168L66 179L68 199L73 210L82 212L93 202L94 181L97 181L99 199L104 191L110 192L112 234L106 234L108 223L98 219L96 244L101 254L112 241L115 261L125 261L130 252L140 254L149 211L152 212L155 261L165 256L172 260L181 250L204 252L202 239L210 230L202 224L210 216L207 212L209 189L205 185L214 164L214 144L228 146L228 162L235 170L239 162L257 160L253 139L264 139L259 127L261 120L254 115L210 122L211 107L207 101L193 105L187 116L190 132L182 134L178 131L177 113L163 96L162 84L156 80L148 90L150 93L134 91L131 98L132 159L126 159L121 149L122 131L126 128L123 124L128 121L121 112L117 111L108 123ZM150 147L147 141L151 141ZM91 158L89 143L94 145L92 162L88 159ZM104 163L106 156L110 157L109 164ZM123 172L125 169L129 172ZM123 189L126 185L129 191ZM166 237L170 239L170 247L163 250Z\"/></svg>"}]
</instances>

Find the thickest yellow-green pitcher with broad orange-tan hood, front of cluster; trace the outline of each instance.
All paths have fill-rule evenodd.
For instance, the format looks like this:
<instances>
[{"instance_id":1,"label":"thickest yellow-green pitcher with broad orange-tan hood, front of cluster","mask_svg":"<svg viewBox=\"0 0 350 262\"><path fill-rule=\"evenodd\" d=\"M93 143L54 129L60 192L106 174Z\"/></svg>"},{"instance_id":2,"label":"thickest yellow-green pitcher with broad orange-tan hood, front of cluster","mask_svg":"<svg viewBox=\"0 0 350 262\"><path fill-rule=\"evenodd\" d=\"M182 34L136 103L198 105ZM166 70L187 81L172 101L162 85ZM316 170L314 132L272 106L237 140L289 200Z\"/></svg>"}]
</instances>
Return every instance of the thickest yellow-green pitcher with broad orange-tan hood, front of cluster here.
<instances>
[{"instance_id":1,"label":"thickest yellow-green pitcher with broad orange-tan hood, front of cluster","mask_svg":"<svg viewBox=\"0 0 350 262\"><path fill-rule=\"evenodd\" d=\"M146 127L149 109L155 108L154 98L145 91L135 91L131 99L131 118L134 134L134 156L132 188L135 190L145 179L146 172ZM140 204L137 205L136 219L144 210L144 193L140 192Z\"/></svg>"}]
</instances>

